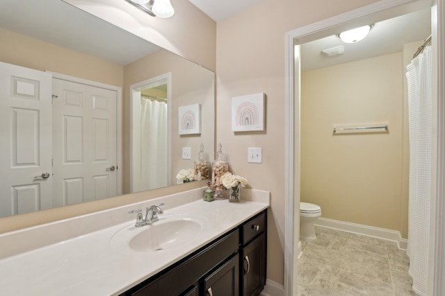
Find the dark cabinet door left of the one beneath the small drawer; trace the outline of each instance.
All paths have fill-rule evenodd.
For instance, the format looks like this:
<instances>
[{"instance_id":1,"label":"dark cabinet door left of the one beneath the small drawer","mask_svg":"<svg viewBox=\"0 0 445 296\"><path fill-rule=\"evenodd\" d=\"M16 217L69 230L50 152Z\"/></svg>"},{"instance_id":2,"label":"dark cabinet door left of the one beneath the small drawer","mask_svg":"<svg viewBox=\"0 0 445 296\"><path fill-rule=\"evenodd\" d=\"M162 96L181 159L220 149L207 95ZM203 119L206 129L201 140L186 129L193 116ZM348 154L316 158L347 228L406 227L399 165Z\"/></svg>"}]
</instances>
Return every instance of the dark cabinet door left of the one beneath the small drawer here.
<instances>
[{"instance_id":1,"label":"dark cabinet door left of the one beneath the small drawer","mask_svg":"<svg viewBox=\"0 0 445 296\"><path fill-rule=\"evenodd\" d=\"M239 256L236 254L204 279L205 296L239 295Z\"/></svg>"}]
</instances>

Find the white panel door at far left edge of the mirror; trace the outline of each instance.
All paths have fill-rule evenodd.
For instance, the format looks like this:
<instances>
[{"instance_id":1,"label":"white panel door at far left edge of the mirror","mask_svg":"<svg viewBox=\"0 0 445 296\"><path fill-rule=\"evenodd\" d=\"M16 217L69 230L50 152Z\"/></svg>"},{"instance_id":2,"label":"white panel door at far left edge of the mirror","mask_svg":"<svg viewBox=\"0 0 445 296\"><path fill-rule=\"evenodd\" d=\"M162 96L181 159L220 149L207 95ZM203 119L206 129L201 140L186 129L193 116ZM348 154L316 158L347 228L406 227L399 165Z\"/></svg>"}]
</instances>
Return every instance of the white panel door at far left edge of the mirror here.
<instances>
[{"instance_id":1,"label":"white panel door at far left edge of the mirror","mask_svg":"<svg viewBox=\"0 0 445 296\"><path fill-rule=\"evenodd\" d=\"M51 78L0 62L0 217L52 207Z\"/></svg>"}]
</instances>

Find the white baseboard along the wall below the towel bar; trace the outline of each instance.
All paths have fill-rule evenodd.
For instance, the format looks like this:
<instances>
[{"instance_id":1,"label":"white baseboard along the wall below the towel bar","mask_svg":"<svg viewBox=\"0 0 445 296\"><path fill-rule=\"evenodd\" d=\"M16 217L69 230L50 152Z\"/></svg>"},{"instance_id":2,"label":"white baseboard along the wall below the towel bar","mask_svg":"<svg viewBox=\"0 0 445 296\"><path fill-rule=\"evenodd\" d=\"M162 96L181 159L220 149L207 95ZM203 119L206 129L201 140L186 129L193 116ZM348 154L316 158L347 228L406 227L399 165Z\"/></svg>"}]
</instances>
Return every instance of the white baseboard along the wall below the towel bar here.
<instances>
[{"instance_id":1,"label":"white baseboard along the wall below the towel bar","mask_svg":"<svg viewBox=\"0 0 445 296\"><path fill-rule=\"evenodd\" d=\"M387 241L394 241L397 243L398 248L401 250L406 250L407 247L407 240L405 238L402 238L401 233L396 230L343 222L339 220L333 220L322 217L316 220L315 225L332 229L338 229L343 232L351 232L355 234L362 234L365 236L373 236L375 238L381 238Z\"/></svg>"}]
</instances>

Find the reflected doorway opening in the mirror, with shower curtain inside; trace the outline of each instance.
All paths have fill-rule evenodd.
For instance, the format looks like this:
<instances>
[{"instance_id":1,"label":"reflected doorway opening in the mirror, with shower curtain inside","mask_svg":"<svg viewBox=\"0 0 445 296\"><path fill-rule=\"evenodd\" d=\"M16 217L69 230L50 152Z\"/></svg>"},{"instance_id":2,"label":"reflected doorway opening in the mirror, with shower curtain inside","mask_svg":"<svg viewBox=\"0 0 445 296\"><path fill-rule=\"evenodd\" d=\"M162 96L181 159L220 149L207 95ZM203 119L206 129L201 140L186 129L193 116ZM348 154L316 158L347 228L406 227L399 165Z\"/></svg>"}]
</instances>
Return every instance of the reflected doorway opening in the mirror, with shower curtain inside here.
<instances>
[{"instance_id":1,"label":"reflected doorway opening in the mirror, with shower curtain inside","mask_svg":"<svg viewBox=\"0 0 445 296\"><path fill-rule=\"evenodd\" d=\"M169 186L171 73L131 85L130 191Z\"/></svg>"}]
</instances>

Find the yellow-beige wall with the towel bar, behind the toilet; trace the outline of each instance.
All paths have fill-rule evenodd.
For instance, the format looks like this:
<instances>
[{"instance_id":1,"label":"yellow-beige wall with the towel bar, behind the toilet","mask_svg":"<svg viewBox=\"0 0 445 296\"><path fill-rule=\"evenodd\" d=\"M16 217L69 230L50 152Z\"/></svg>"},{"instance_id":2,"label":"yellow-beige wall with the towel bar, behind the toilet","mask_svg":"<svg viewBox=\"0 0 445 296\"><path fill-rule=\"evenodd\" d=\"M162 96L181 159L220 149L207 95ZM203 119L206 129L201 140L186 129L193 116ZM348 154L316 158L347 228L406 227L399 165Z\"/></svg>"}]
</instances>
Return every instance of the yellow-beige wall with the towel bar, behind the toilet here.
<instances>
[{"instance_id":1,"label":"yellow-beige wall with the towel bar, behind the toilet","mask_svg":"<svg viewBox=\"0 0 445 296\"><path fill-rule=\"evenodd\" d=\"M324 218L403 232L402 53L302 73L301 200ZM389 132L332 134L387 123ZM403 233L406 238L407 234Z\"/></svg>"}]
</instances>

